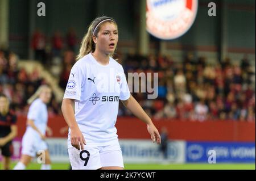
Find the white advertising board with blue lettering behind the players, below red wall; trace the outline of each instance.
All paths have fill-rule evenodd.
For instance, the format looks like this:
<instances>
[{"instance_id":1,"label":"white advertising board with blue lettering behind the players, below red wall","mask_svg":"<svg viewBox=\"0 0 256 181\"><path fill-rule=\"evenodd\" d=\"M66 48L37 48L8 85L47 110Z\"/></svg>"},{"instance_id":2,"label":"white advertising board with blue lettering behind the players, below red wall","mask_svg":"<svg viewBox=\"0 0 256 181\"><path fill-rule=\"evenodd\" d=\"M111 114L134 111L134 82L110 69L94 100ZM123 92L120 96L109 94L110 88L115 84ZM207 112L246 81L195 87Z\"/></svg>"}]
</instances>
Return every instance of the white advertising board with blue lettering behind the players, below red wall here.
<instances>
[{"instance_id":1,"label":"white advertising board with blue lettering behind the players, below red wall","mask_svg":"<svg viewBox=\"0 0 256 181\"><path fill-rule=\"evenodd\" d=\"M47 138L49 153L52 162L69 162L67 139ZM122 149L123 161L125 163L184 163L185 162L185 141L170 141L168 143L168 159L163 158L159 145L153 144L150 140L119 140ZM14 154L12 159L20 158L21 140L13 141ZM1 160L1 156L0 156Z\"/></svg>"}]
</instances>

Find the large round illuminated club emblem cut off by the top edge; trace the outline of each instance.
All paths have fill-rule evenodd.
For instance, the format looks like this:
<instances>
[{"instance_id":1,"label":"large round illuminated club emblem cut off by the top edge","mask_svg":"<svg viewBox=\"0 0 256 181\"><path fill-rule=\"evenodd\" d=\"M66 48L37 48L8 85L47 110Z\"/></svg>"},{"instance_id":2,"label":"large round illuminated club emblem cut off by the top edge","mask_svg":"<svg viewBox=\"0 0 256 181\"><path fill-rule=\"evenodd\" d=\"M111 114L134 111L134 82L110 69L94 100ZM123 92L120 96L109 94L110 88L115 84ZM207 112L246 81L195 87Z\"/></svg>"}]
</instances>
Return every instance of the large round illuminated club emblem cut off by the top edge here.
<instances>
[{"instance_id":1,"label":"large round illuminated club emblem cut off by the top edge","mask_svg":"<svg viewBox=\"0 0 256 181\"><path fill-rule=\"evenodd\" d=\"M191 28L197 7L197 0L147 0L147 31L159 39L176 39Z\"/></svg>"}]
</instances>

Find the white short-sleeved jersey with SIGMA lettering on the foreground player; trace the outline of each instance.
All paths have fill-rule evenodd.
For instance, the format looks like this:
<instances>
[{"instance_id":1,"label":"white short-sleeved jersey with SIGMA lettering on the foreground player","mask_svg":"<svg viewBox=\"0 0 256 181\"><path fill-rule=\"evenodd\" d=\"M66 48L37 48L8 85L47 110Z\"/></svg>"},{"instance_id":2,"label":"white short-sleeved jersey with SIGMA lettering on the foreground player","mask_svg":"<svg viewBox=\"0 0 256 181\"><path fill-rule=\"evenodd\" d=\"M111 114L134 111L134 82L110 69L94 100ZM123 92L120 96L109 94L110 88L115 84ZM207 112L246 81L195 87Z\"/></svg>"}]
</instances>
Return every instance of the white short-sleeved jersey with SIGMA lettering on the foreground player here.
<instances>
[{"instance_id":1,"label":"white short-sleeved jersey with SIGMA lettering on the foreground player","mask_svg":"<svg viewBox=\"0 0 256 181\"><path fill-rule=\"evenodd\" d=\"M119 100L129 98L122 65L111 57L108 65L101 65L89 53L73 65L63 99L75 99L75 118L86 143L107 145L117 141Z\"/></svg>"}]
</instances>

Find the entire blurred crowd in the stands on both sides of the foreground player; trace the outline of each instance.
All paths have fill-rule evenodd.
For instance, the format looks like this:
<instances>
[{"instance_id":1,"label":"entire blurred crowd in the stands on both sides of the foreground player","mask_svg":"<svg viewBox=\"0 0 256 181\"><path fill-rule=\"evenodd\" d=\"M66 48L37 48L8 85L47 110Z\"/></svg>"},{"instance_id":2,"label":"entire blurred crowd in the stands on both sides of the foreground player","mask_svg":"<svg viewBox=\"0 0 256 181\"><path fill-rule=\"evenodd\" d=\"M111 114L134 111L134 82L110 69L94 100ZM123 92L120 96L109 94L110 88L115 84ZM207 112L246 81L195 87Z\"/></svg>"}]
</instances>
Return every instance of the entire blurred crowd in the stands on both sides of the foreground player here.
<instances>
[{"instance_id":1,"label":"entire blurred crowd in the stands on both sides of the foreground player","mask_svg":"<svg viewBox=\"0 0 256 181\"><path fill-rule=\"evenodd\" d=\"M75 52L68 49L59 56L59 86L64 91L75 64ZM246 56L239 65L233 64L229 58L209 64L205 57L194 58L191 53L179 61L162 55L143 57L118 53L115 57L123 65L126 75L158 73L157 99L148 99L150 92L133 90L131 93L147 114L156 120L255 121L254 71ZM38 70L27 73L18 69L17 64L18 56L0 50L0 92L11 99L11 106L16 112L26 114L27 99L46 81ZM144 82L141 80L139 83L143 86ZM132 116L122 104L119 105L118 116ZM54 95L49 112L61 114L60 103L56 102Z\"/></svg>"}]
</instances>

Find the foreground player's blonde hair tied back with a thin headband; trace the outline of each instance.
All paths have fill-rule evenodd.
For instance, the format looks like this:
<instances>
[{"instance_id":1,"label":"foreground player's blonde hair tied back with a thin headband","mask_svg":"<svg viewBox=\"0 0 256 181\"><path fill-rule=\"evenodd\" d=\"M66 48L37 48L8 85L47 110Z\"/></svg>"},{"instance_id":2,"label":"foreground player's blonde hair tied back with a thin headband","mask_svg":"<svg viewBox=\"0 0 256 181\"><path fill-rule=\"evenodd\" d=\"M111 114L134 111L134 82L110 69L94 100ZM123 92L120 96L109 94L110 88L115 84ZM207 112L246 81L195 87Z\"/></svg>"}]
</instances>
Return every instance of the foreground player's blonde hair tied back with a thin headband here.
<instances>
[{"instance_id":1,"label":"foreground player's blonde hair tied back with a thin headband","mask_svg":"<svg viewBox=\"0 0 256 181\"><path fill-rule=\"evenodd\" d=\"M80 50L79 54L76 56L76 60L79 60L80 58L84 57L86 54L89 54L91 52L95 51L95 43L93 41L93 36L97 37L98 32L100 31L100 28L102 24L101 22L113 22L117 26L117 23L113 18L109 18L108 16L101 16L99 18L96 18L90 23L90 26L88 28L87 33L82 39L81 45L80 45ZM113 54L110 54L112 57Z\"/></svg>"}]
</instances>

